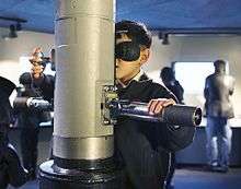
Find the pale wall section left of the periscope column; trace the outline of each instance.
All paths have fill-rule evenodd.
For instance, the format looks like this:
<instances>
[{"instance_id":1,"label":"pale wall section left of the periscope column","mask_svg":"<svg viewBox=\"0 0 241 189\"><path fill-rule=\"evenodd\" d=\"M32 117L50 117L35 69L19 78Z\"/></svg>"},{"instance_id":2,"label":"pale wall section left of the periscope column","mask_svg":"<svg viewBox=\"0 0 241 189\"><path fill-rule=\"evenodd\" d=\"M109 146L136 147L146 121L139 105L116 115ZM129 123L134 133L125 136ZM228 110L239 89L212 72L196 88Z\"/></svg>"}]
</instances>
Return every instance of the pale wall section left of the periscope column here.
<instances>
[{"instance_id":1,"label":"pale wall section left of the periscope column","mask_svg":"<svg viewBox=\"0 0 241 189\"><path fill-rule=\"evenodd\" d=\"M21 56L30 56L35 47L42 47L45 55L49 55L49 50L54 45L54 35L34 32L19 32L18 38L3 39L9 29L0 28L0 75L4 76L16 85L21 74L19 59ZM13 101L15 92L10 99Z\"/></svg>"}]
</instances>

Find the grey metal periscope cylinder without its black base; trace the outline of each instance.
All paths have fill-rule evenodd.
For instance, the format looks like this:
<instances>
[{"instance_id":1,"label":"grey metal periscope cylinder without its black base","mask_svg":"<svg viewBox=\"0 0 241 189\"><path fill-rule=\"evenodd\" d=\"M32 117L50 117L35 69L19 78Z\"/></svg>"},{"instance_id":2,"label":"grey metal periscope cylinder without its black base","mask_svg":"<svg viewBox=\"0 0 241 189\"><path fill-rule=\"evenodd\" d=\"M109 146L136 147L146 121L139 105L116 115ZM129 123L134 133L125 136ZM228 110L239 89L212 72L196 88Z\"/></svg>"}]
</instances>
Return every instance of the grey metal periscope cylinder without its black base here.
<instances>
[{"instance_id":1,"label":"grey metal periscope cylinder without its black base","mask_svg":"<svg viewBox=\"0 0 241 189\"><path fill-rule=\"evenodd\" d=\"M113 0L58 0L54 156L113 156L113 127L102 126L102 86L114 84Z\"/></svg>"}]
</instances>

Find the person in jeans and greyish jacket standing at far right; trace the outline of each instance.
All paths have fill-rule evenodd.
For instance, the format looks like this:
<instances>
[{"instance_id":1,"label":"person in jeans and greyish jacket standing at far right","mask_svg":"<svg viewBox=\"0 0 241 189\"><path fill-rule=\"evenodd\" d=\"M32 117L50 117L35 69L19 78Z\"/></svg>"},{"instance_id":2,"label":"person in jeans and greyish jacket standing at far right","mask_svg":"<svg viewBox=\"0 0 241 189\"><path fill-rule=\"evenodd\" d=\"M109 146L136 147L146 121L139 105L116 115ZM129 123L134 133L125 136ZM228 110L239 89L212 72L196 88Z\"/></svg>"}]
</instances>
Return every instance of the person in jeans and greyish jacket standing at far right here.
<instances>
[{"instance_id":1,"label":"person in jeans and greyish jacket standing at far right","mask_svg":"<svg viewBox=\"0 0 241 189\"><path fill-rule=\"evenodd\" d=\"M228 172L232 131L228 119L233 118L230 96L234 90L234 79L226 73L226 61L214 62L215 72L206 78L204 96L207 115L207 157L214 172ZM218 147L220 139L221 151Z\"/></svg>"}]
</instances>

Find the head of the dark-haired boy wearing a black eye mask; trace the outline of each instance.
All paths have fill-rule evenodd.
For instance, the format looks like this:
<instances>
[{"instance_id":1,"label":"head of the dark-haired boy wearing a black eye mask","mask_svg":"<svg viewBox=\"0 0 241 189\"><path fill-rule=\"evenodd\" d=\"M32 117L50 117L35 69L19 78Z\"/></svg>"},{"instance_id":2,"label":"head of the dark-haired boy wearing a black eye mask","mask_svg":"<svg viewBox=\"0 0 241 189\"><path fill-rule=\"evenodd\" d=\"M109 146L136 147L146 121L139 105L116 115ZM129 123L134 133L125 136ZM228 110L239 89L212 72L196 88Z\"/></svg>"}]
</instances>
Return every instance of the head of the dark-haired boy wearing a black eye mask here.
<instances>
[{"instance_id":1,"label":"head of the dark-haired boy wearing a black eye mask","mask_svg":"<svg viewBox=\"0 0 241 189\"><path fill-rule=\"evenodd\" d=\"M144 24L122 21L115 25L115 44L116 79L126 82L147 62L151 34Z\"/></svg>"}]
</instances>

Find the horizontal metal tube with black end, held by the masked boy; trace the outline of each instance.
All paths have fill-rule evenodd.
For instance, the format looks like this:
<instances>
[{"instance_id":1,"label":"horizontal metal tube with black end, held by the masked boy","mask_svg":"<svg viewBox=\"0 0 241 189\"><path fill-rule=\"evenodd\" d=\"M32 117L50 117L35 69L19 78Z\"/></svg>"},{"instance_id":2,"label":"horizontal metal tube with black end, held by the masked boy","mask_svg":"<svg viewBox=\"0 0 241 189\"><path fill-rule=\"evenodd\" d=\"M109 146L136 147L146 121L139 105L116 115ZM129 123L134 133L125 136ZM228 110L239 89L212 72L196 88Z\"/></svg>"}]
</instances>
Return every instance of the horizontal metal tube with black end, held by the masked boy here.
<instances>
[{"instance_id":1,"label":"horizontal metal tube with black end, held by the masked boy","mask_svg":"<svg viewBox=\"0 0 241 189\"><path fill-rule=\"evenodd\" d=\"M182 127L195 127L202 121L202 109L199 107L184 105L169 106L163 108L160 115L150 115L146 103L120 102L118 106L118 114L120 116L128 116L145 121L167 122Z\"/></svg>"}]
</instances>

